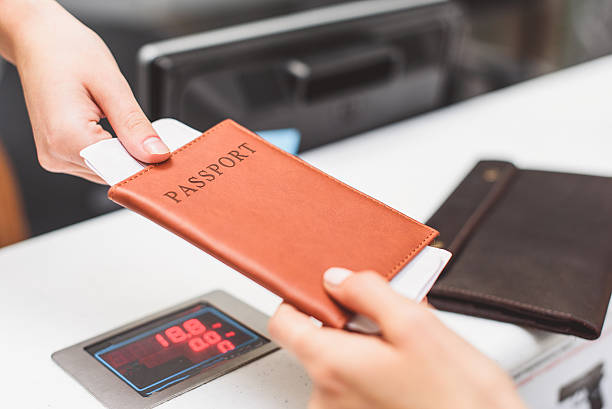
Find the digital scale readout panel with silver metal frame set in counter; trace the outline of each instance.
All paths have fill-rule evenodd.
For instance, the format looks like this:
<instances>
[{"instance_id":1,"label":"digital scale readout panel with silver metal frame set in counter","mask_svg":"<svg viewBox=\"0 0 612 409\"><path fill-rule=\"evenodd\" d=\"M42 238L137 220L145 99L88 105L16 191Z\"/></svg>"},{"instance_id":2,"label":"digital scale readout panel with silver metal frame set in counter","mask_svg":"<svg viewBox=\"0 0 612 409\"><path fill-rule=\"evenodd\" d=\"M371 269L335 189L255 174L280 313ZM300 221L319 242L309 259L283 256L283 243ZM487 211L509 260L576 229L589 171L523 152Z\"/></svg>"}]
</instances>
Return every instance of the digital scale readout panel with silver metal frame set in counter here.
<instances>
[{"instance_id":1,"label":"digital scale readout panel with silver metal frame set in counter","mask_svg":"<svg viewBox=\"0 0 612 409\"><path fill-rule=\"evenodd\" d=\"M110 409L151 408L277 350L267 320L214 291L58 351L53 360Z\"/></svg>"}]
</instances>

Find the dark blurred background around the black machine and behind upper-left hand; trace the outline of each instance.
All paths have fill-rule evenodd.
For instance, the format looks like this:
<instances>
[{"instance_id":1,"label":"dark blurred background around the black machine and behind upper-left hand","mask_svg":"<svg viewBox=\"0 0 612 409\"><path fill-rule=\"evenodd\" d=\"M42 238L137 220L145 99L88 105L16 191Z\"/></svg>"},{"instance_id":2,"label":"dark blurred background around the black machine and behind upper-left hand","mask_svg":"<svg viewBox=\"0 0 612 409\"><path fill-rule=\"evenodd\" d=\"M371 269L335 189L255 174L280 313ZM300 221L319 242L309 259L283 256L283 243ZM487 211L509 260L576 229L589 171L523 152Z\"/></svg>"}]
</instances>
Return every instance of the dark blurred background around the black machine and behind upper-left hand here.
<instances>
[{"instance_id":1,"label":"dark blurred background around the black machine and behind upper-left hand","mask_svg":"<svg viewBox=\"0 0 612 409\"><path fill-rule=\"evenodd\" d=\"M137 53L144 44L346 1L63 0L60 3L100 34L135 87ZM450 3L461 11L464 36L457 58L448 67L444 96L431 109L612 52L612 0L455 0ZM17 73L2 61L0 141L23 196L30 235L116 209L106 199L105 187L51 174L38 165Z\"/></svg>"}]
</instances>

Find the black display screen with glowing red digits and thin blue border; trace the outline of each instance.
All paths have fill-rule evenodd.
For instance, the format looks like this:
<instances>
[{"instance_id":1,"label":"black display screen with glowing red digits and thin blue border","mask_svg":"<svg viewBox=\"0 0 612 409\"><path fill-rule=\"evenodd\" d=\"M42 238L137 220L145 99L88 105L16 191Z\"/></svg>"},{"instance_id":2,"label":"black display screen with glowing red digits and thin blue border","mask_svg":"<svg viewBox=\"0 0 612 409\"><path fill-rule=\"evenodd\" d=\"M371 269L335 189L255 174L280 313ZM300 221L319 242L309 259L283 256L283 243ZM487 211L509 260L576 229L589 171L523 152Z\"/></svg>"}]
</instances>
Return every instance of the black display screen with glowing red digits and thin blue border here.
<instances>
[{"instance_id":1,"label":"black display screen with glowing red digits and thin blue border","mask_svg":"<svg viewBox=\"0 0 612 409\"><path fill-rule=\"evenodd\" d=\"M199 303L85 350L148 397L268 342L212 305Z\"/></svg>"}]
</instances>

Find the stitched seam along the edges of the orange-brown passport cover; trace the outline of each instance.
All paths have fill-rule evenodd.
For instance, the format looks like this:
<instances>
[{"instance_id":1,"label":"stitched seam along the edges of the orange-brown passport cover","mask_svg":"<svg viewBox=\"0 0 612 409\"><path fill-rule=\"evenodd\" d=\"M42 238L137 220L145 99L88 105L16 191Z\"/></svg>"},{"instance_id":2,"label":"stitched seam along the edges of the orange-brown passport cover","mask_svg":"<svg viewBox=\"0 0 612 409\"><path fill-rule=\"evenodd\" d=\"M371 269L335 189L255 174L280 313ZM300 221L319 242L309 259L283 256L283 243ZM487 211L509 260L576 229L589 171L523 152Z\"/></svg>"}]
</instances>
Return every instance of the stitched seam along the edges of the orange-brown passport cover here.
<instances>
[{"instance_id":1,"label":"stitched seam along the edges of the orange-brown passport cover","mask_svg":"<svg viewBox=\"0 0 612 409\"><path fill-rule=\"evenodd\" d=\"M202 140L205 136L207 135L212 135L213 133L215 133L216 131L218 131L219 129L227 126L227 125L232 125L235 128L237 128L239 131L241 132L246 132L249 135L253 135L254 133L250 130L248 130L247 128L244 128L242 125L237 124L234 121L226 121L226 122L222 122L219 125L209 129L208 131L204 132L202 135L198 136L196 139L194 139L193 141L189 142L188 144L182 146L181 148L175 150L174 152L172 152L170 154L170 156L176 156L178 153L184 151L185 149L189 148L191 145L194 145L195 143L197 143L198 141ZM254 134L256 135L256 134ZM406 216L405 214L399 212L398 210L395 210L394 208L387 206L386 204L384 204L383 202L374 199L371 196L366 195L365 193L355 189L352 186L347 185L344 182L339 181L336 178L333 178L332 176L328 175L327 173L321 171L320 169L312 166L311 164L309 164L308 162L305 162L302 159L296 158L295 156L289 154L288 152L278 148L276 145L269 143L268 141L266 141L265 139L262 138L262 141L269 147L272 148L274 150L276 150L277 152L281 153L284 156L290 157L291 159L295 160L297 159L297 163L301 164L302 166L305 166L307 168L309 168L310 170L315 171L316 173L318 173L319 175L325 176L327 177L329 180L333 181L336 184L339 184L340 186L344 186L350 190L352 190L353 192L357 193L359 196L370 200L373 203L377 203L379 205L382 205L384 208L386 208L387 210L391 210L393 213L397 214L398 216L402 217L403 219L409 221L410 223L418 226L418 227L422 227L426 230L429 231L429 234L427 235L427 237L425 237L423 239L423 241L421 241L415 248L412 249L412 251L407 254L406 256L404 256L399 262L397 262L397 264L395 264L395 266L391 269L391 271L389 271L387 274L384 274L383 277L385 278L390 278L390 276L392 276L394 273L397 272L397 269L400 268L405 262L406 260L408 260L410 257L412 257L416 252L418 252L428 241L430 241L431 237L434 236L436 234L436 230L432 229L431 227L424 225L422 223L417 222L416 220L411 219L410 217ZM147 173L148 171L150 171L151 169L155 168L156 166L158 166L157 164L154 165L149 165L147 168L141 170L140 172L136 173L135 175L130 176L129 178L117 183L116 185L112 186L110 188L110 190L108 191L108 196L113 199L114 197L114 193L117 187L122 186L127 184L128 182L131 182L137 178L139 178L140 176L144 175L145 173Z\"/></svg>"}]
</instances>

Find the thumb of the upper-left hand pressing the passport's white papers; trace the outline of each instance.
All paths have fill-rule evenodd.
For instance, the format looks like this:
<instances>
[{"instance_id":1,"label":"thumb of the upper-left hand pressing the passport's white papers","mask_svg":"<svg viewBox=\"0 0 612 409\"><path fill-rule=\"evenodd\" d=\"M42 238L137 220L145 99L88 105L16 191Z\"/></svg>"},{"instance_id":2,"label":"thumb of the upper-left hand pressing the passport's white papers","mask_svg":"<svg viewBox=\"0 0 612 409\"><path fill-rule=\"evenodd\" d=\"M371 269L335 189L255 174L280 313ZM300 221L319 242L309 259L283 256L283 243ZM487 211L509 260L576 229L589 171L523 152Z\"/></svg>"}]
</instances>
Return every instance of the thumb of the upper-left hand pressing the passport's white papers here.
<instances>
[{"instance_id":1,"label":"thumb of the upper-left hand pressing the passport's white papers","mask_svg":"<svg viewBox=\"0 0 612 409\"><path fill-rule=\"evenodd\" d=\"M170 150L142 112L120 72L112 81L96 83L91 88L94 99L132 156L145 163L163 162L170 157Z\"/></svg>"}]
</instances>

